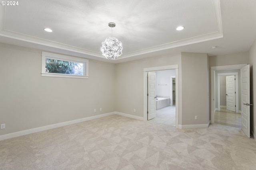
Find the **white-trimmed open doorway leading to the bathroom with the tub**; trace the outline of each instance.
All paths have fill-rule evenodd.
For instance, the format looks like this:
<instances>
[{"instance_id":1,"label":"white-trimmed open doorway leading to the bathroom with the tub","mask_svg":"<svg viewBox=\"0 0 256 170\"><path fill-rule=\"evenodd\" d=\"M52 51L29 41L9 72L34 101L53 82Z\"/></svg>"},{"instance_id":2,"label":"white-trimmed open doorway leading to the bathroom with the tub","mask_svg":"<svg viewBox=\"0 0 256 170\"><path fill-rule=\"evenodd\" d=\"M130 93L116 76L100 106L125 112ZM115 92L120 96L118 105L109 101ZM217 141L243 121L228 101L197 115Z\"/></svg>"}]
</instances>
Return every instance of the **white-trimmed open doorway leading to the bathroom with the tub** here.
<instances>
[{"instance_id":1,"label":"white-trimmed open doorway leading to the bathroom with the tub","mask_svg":"<svg viewBox=\"0 0 256 170\"><path fill-rule=\"evenodd\" d=\"M144 68L144 119L178 128L178 65Z\"/></svg>"}]
</instances>

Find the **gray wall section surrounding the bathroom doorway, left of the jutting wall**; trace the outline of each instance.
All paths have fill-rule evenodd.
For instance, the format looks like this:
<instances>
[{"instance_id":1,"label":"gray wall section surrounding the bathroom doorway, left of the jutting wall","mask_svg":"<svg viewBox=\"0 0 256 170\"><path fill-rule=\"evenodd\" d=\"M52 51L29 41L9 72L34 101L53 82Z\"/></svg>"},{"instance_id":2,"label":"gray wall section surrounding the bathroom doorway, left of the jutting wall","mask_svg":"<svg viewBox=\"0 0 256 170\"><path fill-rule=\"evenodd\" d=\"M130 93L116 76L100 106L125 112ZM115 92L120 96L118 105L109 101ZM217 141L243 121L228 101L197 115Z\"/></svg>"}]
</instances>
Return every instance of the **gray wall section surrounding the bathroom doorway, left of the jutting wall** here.
<instances>
[{"instance_id":1,"label":"gray wall section surrounding the bathroom doorway, left of the jutting wall","mask_svg":"<svg viewBox=\"0 0 256 170\"><path fill-rule=\"evenodd\" d=\"M174 64L179 66L179 83L181 83L180 53L116 64L116 111L143 117L143 69ZM181 104L181 98L179 101ZM133 109L136 109L136 112ZM180 109L181 105L179 105Z\"/></svg>"}]
</instances>

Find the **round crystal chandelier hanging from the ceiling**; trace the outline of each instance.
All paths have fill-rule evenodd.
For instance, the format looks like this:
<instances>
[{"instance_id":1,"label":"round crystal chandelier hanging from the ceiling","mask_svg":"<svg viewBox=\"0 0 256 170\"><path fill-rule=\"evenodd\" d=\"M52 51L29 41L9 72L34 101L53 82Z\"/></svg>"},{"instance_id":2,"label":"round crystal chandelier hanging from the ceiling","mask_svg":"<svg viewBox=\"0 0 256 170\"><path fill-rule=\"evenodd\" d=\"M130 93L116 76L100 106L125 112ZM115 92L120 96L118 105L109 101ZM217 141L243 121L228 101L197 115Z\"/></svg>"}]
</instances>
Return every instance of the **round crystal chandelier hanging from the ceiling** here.
<instances>
[{"instance_id":1,"label":"round crystal chandelier hanging from the ceiling","mask_svg":"<svg viewBox=\"0 0 256 170\"><path fill-rule=\"evenodd\" d=\"M113 27L116 26L115 23L110 22L108 23L108 26L111 27L111 30ZM113 32L112 32L113 33ZM122 43L116 39L116 37L108 37L106 38L102 43L100 47L100 51L103 56L106 57L106 59L117 59L120 55L122 55Z\"/></svg>"}]
</instances>

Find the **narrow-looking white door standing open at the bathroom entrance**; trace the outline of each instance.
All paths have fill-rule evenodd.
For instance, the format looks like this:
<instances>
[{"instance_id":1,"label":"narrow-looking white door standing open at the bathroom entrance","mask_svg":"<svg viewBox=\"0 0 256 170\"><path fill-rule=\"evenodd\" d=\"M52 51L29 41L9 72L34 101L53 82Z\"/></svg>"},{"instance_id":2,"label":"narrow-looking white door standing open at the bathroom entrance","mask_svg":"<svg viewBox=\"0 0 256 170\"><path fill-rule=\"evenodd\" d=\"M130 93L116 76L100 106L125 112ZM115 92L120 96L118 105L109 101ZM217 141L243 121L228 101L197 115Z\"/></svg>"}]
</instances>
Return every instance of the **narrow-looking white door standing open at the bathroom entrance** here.
<instances>
[{"instance_id":1,"label":"narrow-looking white door standing open at the bathroom entrance","mask_svg":"<svg viewBox=\"0 0 256 170\"><path fill-rule=\"evenodd\" d=\"M148 72L148 120L156 117L156 73Z\"/></svg>"}]
</instances>

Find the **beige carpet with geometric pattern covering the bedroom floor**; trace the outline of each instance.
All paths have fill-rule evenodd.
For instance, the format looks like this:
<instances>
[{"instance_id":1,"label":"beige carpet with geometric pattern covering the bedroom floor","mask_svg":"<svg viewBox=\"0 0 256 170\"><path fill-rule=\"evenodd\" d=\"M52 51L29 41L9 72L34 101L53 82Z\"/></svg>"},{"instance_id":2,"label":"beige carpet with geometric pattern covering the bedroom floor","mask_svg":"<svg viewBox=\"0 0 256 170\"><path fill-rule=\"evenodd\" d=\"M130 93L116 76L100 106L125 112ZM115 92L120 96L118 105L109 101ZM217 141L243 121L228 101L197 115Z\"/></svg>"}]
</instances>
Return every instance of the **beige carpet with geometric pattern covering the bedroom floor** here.
<instances>
[{"instance_id":1,"label":"beige carpet with geometric pattern covering the bedroom floor","mask_svg":"<svg viewBox=\"0 0 256 170\"><path fill-rule=\"evenodd\" d=\"M255 170L234 127L175 129L112 115L0 141L0 170Z\"/></svg>"}]
</instances>

